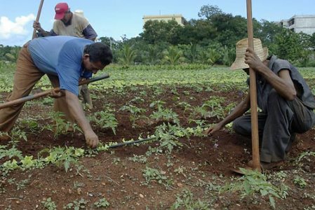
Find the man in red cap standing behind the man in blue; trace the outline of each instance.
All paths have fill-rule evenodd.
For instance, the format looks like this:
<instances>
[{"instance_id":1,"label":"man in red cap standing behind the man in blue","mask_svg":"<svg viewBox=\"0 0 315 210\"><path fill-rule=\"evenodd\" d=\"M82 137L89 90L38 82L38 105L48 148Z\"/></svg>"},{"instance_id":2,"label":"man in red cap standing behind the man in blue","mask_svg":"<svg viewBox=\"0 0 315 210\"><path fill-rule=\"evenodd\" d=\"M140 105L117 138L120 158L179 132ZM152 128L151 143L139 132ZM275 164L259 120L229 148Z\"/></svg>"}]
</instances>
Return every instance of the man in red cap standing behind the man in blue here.
<instances>
[{"instance_id":1,"label":"man in red cap standing behind the man in blue","mask_svg":"<svg viewBox=\"0 0 315 210\"><path fill-rule=\"evenodd\" d=\"M75 36L92 41L95 41L95 38L98 36L88 20L82 15L72 13L67 3L58 3L55 6L55 22L51 31L42 29L39 22L34 22L33 27L39 31L39 36ZM93 103L88 85L82 85L81 88L83 104L87 104L87 107L92 109Z\"/></svg>"}]
</instances>

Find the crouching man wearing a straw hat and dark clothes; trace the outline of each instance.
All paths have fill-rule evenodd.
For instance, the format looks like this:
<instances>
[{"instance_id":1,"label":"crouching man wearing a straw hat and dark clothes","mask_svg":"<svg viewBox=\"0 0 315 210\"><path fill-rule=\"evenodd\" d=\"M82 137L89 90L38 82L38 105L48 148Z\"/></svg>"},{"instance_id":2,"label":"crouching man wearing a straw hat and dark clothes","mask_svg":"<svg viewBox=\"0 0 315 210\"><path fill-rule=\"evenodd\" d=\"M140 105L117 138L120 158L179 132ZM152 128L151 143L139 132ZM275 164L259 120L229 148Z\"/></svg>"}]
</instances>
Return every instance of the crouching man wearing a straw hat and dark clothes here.
<instances>
[{"instance_id":1,"label":"crouching man wearing a straw hat and dark clothes","mask_svg":"<svg viewBox=\"0 0 315 210\"><path fill-rule=\"evenodd\" d=\"M268 57L260 39L254 38L255 52L248 48L248 39L236 43L236 59L231 69L249 68L256 72L258 132L260 136L260 161L263 169L272 169L283 163L290 150L295 133L303 133L315 125L315 99L309 86L288 61L275 55ZM249 80L248 80L249 83ZM234 111L206 134L213 134L227 123L233 122L235 132L250 137L250 92ZM250 167L253 163L248 162Z\"/></svg>"}]
</instances>

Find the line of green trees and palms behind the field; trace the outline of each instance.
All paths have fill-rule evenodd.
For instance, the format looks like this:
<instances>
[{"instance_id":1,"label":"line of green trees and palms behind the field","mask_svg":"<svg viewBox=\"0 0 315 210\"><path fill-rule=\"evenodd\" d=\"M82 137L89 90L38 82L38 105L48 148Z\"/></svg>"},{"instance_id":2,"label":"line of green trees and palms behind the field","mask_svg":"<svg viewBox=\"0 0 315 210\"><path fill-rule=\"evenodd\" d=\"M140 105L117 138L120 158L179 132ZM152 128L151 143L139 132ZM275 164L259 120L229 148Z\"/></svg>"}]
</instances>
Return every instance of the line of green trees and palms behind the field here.
<instances>
[{"instance_id":1,"label":"line of green trees and palms behind the field","mask_svg":"<svg viewBox=\"0 0 315 210\"><path fill-rule=\"evenodd\" d=\"M224 13L213 5L202 6L198 19L181 26L175 20L149 20L142 33L120 41L102 36L99 41L111 46L114 63L182 64L197 63L210 66L232 64L235 44L247 37L247 21L240 15ZM253 19L254 36L269 48L269 54L288 59L297 66L315 66L315 33L295 33L275 22ZM0 59L16 59L19 47L0 45Z\"/></svg>"}]
</instances>

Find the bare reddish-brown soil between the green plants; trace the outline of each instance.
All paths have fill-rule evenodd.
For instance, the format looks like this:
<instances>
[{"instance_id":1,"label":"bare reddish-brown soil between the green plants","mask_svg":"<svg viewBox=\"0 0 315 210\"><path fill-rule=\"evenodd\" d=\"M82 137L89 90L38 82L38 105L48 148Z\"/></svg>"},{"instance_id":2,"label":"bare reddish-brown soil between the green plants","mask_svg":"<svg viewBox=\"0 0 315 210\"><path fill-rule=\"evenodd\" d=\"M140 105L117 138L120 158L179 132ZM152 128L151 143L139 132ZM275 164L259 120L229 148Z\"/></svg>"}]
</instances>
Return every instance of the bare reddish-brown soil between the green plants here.
<instances>
[{"instance_id":1,"label":"bare reddish-brown soil between the green plants","mask_svg":"<svg viewBox=\"0 0 315 210\"><path fill-rule=\"evenodd\" d=\"M140 95L146 91L147 94ZM135 106L147 109L146 116L152 113L149 104L154 100L166 102L163 106L173 109L179 118L182 127L194 127L187 119L189 111L175 106L176 97L181 102L191 106L201 106L211 96L226 97L227 104L240 102L241 92L196 92L189 87L177 88L173 94L168 88L163 93L156 95L154 90L142 87L141 90L127 90L127 93L107 92L106 94L93 91L95 96L94 108L87 114L102 110L106 104L112 104L116 110L115 116L119 122L116 135L110 129L101 129L93 125L99 135L100 141L121 142L123 139L138 139L153 134L155 127L162 122L148 120L137 121L133 127L127 111L119 111L121 106L130 102L135 97L141 97L143 102L133 102ZM2 94L4 98L5 94ZM43 106L40 101L28 103L23 109L20 118L27 116L41 116L38 122L41 125L49 123L46 113L51 106ZM207 122L217 123L217 118L208 118ZM75 146L84 148L84 138L79 132L61 134L53 138L53 132L48 130L27 132L27 141L20 140L18 149L23 155L38 156L39 151L53 146ZM302 152L315 151L315 130L299 134L297 145L288 155L288 160L280 168L272 170L270 174L285 172L286 178L282 181L290 188L286 199L276 199L277 209L304 209L315 204L314 174L315 158L303 159L300 165L295 160ZM192 200L201 200L208 204L209 209L271 209L268 197L255 194L241 199L239 193L218 193L215 186L224 186L233 182L238 175L231 172L233 167L243 167L250 160L251 147L246 137L241 137L229 130L217 132L213 137L191 137L180 139L182 148L175 148L170 153L148 153L152 148L159 146L158 141L149 141L136 146L124 146L111 149L108 152L98 153L92 157L79 159L79 166L72 165L68 172L55 165L48 165L43 169L15 170L9 176L1 176L0 209L45 209L43 201L48 197L62 209L69 203L83 199L86 209L97 209L93 204L105 197L109 202L107 209L169 209L183 190L192 193ZM8 145L8 142L1 142ZM133 161L135 155L147 158L144 163ZM0 160L1 163L4 160ZM143 176L146 167L159 169L167 177L162 184L158 180L146 182ZM307 185L301 188L293 183L295 176L301 176ZM169 184L166 184L168 181ZM272 179L275 184L279 180ZM187 198L187 197L186 197ZM48 202L46 202L47 204ZM180 209L193 207L181 206ZM47 207L48 209L48 207ZM195 209L198 209L195 207Z\"/></svg>"}]
</instances>

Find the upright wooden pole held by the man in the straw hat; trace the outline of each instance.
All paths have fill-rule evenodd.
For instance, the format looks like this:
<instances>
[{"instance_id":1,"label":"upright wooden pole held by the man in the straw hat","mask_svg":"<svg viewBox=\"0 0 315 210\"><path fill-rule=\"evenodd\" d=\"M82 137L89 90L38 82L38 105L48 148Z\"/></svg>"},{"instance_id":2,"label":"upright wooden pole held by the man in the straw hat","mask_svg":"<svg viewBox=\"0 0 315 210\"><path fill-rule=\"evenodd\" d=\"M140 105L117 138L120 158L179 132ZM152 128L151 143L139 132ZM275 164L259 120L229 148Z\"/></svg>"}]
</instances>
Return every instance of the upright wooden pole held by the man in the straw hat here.
<instances>
[{"instance_id":1,"label":"upright wooden pole held by the man in the straw hat","mask_svg":"<svg viewBox=\"0 0 315 210\"><path fill-rule=\"evenodd\" d=\"M252 1L246 0L247 8L247 31L248 31L248 48L254 49L253 36L253 17L252 17ZM256 73L253 69L250 72L250 116L252 125L252 151L253 151L253 167L260 171L260 153L259 153L259 137L258 137L258 120L257 120L257 90L256 90Z\"/></svg>"}]
</instances>

